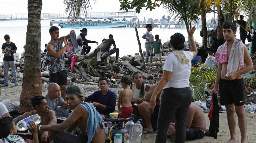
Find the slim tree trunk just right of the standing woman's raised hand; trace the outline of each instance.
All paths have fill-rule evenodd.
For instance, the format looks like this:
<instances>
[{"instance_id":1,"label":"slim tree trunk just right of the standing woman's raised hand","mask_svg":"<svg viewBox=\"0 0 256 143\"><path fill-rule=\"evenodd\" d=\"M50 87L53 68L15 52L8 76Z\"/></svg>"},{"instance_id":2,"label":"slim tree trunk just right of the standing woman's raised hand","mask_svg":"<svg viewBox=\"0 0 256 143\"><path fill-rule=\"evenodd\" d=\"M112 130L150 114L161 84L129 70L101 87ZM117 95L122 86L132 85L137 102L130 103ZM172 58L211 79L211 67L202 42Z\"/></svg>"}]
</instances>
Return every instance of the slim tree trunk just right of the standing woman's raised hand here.
<instances>
[{"instance_id":1,"label":"slim tree trunk just right of the standing woman's raised hand","mask_svg":"<svg viewBox=\"0 0 256 143\"><path fill-rule=\"evenodd\" d=\"M206 49L208 47L208 44L207 44L208 37L207 37L207 25L206 25L206 11L205 11L204 5L202 7L201 17L202 17L203 47L204 49Z\"/></svg>"}]
</instances>

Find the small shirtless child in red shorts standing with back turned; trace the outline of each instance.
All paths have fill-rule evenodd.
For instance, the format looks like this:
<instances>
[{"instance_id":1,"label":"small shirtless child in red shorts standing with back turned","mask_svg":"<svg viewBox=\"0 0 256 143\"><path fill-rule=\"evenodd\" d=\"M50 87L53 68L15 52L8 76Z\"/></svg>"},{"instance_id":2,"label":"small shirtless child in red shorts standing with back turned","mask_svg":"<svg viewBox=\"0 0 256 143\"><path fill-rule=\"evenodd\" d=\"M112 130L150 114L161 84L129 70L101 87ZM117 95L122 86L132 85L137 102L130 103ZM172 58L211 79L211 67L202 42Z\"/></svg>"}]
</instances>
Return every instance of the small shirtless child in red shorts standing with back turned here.
<instances>
[{"instance_id":1,"label":"small shirtless child in red shorts standing with back turned","mask_svg":"<svg viewBox=\"0 0 256 143\"><path fill-rule=\"evenodd\" d=\"M121 110L120 118L128 118L132 114L132 90L130 89L130 85L132 83L132 79L130 77L124 76L121 80L122 87L124 90L121 90L119 93L119 99L117 103L118 110ZM120 107L122 105L122 107Z\"/></svg>"}]
</instances>

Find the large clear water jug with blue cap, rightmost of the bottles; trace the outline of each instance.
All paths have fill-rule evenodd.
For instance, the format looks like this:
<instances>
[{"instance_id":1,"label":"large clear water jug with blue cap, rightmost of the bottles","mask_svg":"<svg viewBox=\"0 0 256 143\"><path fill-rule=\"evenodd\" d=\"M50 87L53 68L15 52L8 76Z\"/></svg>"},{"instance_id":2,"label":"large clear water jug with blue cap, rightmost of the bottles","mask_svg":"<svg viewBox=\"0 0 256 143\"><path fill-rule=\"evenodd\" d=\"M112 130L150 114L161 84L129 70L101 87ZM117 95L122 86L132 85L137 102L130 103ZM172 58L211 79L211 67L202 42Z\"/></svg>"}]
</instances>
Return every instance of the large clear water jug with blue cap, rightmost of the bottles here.
<instances>
[{"instance_id":1,"label":"large clear water jug with blue cap, rightmost of the bottles","mask_svg":"<svg viewBox=\"0 0 256 143\"><path fill-rule=\"evenodd\" d=\"M140 124L142 119L137 120L137 122L132 127L132 137L131 143L140 143L142 135L142 125Z\"/></svg>"}]
</instances>

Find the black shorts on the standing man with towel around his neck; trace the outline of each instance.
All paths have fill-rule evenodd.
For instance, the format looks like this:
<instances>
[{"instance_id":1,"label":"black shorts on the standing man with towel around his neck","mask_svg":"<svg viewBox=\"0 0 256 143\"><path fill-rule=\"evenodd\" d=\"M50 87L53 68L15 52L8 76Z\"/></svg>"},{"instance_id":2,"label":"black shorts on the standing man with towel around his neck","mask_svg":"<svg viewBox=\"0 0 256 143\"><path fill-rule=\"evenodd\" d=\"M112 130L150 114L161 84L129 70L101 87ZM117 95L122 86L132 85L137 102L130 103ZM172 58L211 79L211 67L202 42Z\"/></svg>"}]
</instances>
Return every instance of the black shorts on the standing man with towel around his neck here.
<instances>
[{"instance_id":1,"label":"black shorts on the standing man with towel around his neck","mask_svg":"<svg viewBox=\"0 0 256 143\"><path fill-rule=\"evenodd\" d=\"M235 106L245 104L244 79L224 80L219 82L220 104L229 105L234 103Z\"/></svg>"}]
</instances>

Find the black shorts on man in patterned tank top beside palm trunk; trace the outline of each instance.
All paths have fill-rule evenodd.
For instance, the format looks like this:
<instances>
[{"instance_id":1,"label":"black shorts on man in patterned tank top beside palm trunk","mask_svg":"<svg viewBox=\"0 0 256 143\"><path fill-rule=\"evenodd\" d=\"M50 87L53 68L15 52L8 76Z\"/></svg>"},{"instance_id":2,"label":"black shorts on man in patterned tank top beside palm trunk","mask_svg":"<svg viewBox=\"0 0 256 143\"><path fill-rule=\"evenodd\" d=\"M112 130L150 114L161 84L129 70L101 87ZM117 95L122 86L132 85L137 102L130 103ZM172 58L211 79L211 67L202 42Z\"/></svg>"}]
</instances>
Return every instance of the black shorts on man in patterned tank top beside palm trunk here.
<instances>
[{"instance_id":1,"label":"black shorts on man in patterned tank top beside palm trunk","mask_svg":"<svg viewBox=\"0 0 256 143\"><path fill-rule=\"evenodd\" d=\"M67 71L63 70L57 73L49 72L49 83L57 83L58 85L67 85Z\"/></svg>"}]
</instances>

